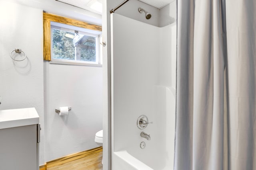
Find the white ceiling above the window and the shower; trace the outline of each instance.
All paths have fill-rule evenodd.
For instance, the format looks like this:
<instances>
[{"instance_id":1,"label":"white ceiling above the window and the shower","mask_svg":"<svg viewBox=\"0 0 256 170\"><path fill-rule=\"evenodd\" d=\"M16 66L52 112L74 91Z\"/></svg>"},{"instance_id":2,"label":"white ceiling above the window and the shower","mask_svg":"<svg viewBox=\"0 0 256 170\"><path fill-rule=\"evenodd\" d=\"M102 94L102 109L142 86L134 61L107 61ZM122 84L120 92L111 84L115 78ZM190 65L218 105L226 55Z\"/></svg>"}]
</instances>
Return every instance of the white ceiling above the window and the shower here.
<instances>
[{"instance_id":1,"label":"white ceiling above the window and the shower","mask_svg":"<svg viewBox=\"0 0 256 170\"><path fill-rule=\"evenodd\" d=\"M56 1L63 2L65 4L69 4L69 5L72 5L72 6L76 6L78 8L82 8L82 9L85 9L85 10L89 10L89 11L101 14L101 12L98 12L98 11L90 8L90 6L88 6L88 4L90 2L92 2L93 0L56 0ZM101 0L98 0L98 1L101 1ZM154 6L155 8L160 9L160 8L170 4L171 2L173 2L175 0L139 0L139 1L144 2L146 4Z\"/></svg>"}]
</instances>

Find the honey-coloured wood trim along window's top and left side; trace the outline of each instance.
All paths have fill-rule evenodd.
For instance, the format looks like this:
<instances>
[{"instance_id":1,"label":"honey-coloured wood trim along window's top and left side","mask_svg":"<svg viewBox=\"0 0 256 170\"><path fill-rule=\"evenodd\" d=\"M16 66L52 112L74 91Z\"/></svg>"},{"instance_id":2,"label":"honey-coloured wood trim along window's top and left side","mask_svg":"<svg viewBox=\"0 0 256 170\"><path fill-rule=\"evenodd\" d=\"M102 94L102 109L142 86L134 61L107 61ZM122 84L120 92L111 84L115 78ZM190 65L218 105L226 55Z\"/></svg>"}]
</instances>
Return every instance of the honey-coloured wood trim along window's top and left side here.
<instances>
[{"instance_id":1,"label":"honey-coloured wood trim along window's top and left side","mask_svg":"<svg viewBox=\"0 0 256 170\"><path fill-rule=\"evenodd\" d=\"M44 25L44 60L51 61L51 21L64 23L67 25L72 25L76 27L81 27L85 29L91 29L95 31L102 31L100 25L94 25L92 23L87 23L84 21L74 20L71 18L66 18L62 16L57 16L54 14L43 13L43 25Z\"/></svg>"}]
</instances>

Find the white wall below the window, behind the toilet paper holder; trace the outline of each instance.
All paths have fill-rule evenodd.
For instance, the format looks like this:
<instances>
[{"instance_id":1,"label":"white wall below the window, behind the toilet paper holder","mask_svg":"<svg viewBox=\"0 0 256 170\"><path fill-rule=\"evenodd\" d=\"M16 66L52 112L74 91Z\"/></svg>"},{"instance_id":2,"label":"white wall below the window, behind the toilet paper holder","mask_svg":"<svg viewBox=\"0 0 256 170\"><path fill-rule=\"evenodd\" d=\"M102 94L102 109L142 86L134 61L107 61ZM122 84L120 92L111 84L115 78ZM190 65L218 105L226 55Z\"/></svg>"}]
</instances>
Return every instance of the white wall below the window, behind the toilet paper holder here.
<instances>
[{"instance_id":1,"label":"white wall below the window, behind the toilet paper holder","mask_svg":"<svg viewBox=\"0 0 256 170\"><path fill-rule=\"evenodd\" d=\"M49 64L45 78L45 161L98 145L102 129L102 67ZM67 116L55 108L72 107Z\"/></svg>"}]
</instances>

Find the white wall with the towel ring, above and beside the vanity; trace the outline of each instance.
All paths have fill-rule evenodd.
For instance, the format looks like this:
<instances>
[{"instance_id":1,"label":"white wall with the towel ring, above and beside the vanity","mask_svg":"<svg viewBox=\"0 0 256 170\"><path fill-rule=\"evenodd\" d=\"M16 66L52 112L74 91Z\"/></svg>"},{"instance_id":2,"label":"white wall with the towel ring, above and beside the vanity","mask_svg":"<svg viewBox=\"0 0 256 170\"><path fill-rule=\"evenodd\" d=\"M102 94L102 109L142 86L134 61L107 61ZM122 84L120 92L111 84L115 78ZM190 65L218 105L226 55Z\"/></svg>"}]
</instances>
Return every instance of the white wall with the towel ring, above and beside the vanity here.
<instances>
[{"instance_id":1,"label":"white wall with the towel ring, above and beside the vanity","mask_svg":"<svg viewBox=\"0 0 256 170\"><path fill-rule=\"evenodd\" d=\"M2 97L0 109L36 108L42 125L40 164L43 164L42 10L0 1L0 25L0 96ZM26 53L27 59L13 61L9 53L15 48L21 48Z\"/></svg>"}]
</instances>

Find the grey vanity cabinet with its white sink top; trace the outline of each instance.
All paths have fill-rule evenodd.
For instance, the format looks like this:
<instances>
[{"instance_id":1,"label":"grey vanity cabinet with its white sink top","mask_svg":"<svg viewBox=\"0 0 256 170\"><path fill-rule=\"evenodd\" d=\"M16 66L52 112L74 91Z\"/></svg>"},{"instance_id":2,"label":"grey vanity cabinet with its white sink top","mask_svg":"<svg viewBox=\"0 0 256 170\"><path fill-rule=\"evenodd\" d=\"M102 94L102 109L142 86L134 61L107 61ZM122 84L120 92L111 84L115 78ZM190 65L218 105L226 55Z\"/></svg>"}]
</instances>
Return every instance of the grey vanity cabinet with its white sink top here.
<instances>
[{"instance_id":1,"label":"grey vanity cabinet with its white sink top","mask_svg":"<svg viewBox=\"0 0 256 170\"><path fill-rule=\"evenodd\" d=\"M35 108L0 110L0 170L39 170L39 142Z\"/></svg>"}]
</instances>

